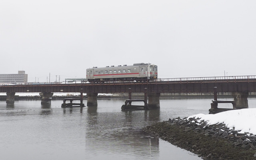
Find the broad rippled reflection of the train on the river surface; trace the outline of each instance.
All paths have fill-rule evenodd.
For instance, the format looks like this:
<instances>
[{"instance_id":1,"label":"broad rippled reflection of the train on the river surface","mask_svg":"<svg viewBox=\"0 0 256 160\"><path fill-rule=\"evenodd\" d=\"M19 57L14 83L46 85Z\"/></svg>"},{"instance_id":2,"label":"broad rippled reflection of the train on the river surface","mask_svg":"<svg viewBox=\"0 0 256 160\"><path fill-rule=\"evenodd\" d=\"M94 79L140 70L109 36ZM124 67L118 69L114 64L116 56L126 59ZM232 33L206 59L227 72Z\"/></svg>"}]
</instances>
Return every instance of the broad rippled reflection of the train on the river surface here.
<instances>
[{"instance_id":1,"label":"broad rippled reflection of the train on the river surface","mask_svg":"<svg viewBox=\"0 0 256 160\"><path fill-rule=\"evenodd\" d=\"M159 157L159 139L141 132L141 125L160 120L160 110L96 112L88 107L86 148L91 152L130 153L137 159ZM97 146L92 149L92 146ZM94 150L94 151L92 151ZM94 157L95 158L95 157ZM97 157L104 158L104 157ZM119 157L122 159L122 157Z\"/></svg>"}]
</instances>

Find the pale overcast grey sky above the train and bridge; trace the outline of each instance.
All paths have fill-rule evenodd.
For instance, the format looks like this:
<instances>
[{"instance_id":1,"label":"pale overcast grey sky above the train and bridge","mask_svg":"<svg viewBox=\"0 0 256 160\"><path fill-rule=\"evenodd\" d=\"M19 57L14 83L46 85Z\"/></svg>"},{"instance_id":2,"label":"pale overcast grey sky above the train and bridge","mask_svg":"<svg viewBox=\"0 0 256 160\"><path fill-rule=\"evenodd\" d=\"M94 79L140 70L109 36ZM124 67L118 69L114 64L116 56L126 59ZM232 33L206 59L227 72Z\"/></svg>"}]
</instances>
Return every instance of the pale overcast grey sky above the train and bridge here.
<instances>
[{"instance_id":1,"label":"pale overcast grey sky above the train and bridge","mask_svg":"<svg viewBox=\"0 0 256 160\"><path fill-rule=\"evenodd\" d=\"M0 0L0 74L62 81L93 66L150 62L159 78L256 75L255 8L255 0Z\"/></svg>"}]
</instances>

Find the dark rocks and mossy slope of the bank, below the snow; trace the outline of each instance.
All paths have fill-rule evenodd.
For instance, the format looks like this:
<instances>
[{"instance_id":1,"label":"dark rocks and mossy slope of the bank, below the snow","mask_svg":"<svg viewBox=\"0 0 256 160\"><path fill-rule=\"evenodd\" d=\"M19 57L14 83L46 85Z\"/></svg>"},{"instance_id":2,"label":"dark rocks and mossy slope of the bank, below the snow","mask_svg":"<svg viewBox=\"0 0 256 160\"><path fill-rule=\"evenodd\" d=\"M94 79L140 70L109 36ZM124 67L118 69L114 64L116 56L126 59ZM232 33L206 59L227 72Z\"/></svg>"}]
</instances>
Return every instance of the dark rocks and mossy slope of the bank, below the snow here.
<instances>
[{"instance_id":1,"label":"dark rocks and mossy slope of the bank, below the snow","mask_svg":"<svg viewBox=\"0 0 256 160\"><path fill-rule=\"evenodd\" d=\"M256 160L256 136L208 125L199 118L175 118L143 128L152 136L197 154L204 160Z\"/></svg>"}]
</instances>

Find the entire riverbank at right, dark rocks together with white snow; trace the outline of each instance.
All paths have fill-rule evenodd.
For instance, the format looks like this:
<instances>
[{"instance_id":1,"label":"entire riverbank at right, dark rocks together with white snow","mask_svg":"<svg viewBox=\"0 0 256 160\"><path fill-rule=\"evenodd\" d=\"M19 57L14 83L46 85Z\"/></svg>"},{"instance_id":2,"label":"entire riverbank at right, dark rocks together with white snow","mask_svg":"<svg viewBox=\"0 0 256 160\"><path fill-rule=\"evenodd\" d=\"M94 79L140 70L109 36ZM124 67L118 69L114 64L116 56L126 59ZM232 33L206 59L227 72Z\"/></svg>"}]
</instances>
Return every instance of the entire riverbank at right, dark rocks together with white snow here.
<instances>
[{"instance_id":1,"label":"entire riverbank at right, dark rocks together with white snow","mask_svg":"<svg viewBox=\"0 0 256 160\"><path fill-rule=\"evenodd\" d=\"M256 159L256 108L174 118L144 128L204 160Z\"/></svg>"}]
</instances>

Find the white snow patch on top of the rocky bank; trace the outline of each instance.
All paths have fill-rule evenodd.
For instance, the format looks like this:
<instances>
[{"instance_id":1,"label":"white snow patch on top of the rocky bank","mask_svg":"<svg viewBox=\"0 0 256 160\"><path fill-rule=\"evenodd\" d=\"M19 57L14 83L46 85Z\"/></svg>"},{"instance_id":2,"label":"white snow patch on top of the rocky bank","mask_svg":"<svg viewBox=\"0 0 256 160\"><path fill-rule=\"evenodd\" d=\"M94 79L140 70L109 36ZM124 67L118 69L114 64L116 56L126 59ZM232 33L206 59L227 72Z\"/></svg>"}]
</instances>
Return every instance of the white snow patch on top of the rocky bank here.
<instances>
[{"instance_id":1,"label":"white snow patch on top of the rocky bank","mask_svg":"<svg viewBox=\"0 0 256 160\"><path fill-rule=\"evenodd\" d=\"M240 110L230 110L226 112L220 112L217 114L196 114L189 116L189 118L200 118L207 124L224 123L226 127L241 130L240 133L256 134L256 108L246 108Z\"/></svg>"}]
</instances>

